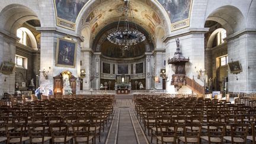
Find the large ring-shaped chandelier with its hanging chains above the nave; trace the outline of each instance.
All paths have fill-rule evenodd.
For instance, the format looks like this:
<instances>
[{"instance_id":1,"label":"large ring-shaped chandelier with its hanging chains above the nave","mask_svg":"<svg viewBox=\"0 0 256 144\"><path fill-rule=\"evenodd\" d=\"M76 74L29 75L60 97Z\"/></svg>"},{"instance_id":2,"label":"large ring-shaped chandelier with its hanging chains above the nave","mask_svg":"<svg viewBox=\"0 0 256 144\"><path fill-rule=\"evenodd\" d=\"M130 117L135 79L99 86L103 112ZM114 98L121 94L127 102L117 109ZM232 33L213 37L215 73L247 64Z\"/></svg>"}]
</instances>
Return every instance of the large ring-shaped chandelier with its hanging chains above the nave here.
<instances>
[{"instance_id":1,"label":"large ring-shaped chandelier with its hanging chains above the nave","mask_svg":"<svg viewBox=\"0 0 256 144\"><path fill-rule=\"evenodd\" d=\"M121 21L121 16L119 18L119 23L117 29L112 33L108 34L107 39L114 44L124 46L124 49L127 50L128 46L135 45L146 39L145 35L137 30L136 24L131 28L129 25L129 14L132 18L132 11L129 7L129 0L124 0L123 13L125 15L124 27L119 29L119 24Z\"/></svg>"}]
</instances>

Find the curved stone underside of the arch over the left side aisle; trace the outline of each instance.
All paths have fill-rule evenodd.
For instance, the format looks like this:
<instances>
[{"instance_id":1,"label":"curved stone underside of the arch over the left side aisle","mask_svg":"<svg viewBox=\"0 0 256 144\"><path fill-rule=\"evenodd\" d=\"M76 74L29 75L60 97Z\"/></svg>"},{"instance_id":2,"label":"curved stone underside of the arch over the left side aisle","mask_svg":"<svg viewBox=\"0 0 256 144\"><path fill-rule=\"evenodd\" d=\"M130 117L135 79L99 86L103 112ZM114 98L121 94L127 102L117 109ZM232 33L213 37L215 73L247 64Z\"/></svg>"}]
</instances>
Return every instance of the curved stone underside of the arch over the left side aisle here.
<instances>
[{"instance_id":1,"label":"curved stone underside of the arch over the left side aisle","mask_svg":"<svg viewBox=\"0 0 256 144\"><path fill-rule=\"evenodd\" d=\"M0 12L0 29L16 36L17 29L28 20L39 20L36 12L20 4L11 4Z\"/></svg>"}]
</instances>

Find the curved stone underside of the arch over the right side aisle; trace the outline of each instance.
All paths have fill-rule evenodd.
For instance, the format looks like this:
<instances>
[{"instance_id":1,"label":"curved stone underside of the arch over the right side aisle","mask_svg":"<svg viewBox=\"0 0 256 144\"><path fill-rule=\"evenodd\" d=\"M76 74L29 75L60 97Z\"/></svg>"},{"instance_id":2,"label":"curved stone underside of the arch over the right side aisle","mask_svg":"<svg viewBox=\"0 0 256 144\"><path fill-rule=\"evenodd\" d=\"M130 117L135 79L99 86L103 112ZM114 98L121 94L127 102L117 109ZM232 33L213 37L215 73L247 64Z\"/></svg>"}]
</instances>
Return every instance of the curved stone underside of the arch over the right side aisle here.
<instances>
[{"instance_id":1,"label":"curved stone underside of the arch over the right side aisle","mask_svg":"<svg viewBox=\"0 0 256 144\"><path fill-rule=\"evenodd\" d=\"M242 12L231 5L225 5L216 8L207 15L206 21L216 21L227 31L227 34L233 34L245 28L245 18Z\"/></svg>"}]
</instances>

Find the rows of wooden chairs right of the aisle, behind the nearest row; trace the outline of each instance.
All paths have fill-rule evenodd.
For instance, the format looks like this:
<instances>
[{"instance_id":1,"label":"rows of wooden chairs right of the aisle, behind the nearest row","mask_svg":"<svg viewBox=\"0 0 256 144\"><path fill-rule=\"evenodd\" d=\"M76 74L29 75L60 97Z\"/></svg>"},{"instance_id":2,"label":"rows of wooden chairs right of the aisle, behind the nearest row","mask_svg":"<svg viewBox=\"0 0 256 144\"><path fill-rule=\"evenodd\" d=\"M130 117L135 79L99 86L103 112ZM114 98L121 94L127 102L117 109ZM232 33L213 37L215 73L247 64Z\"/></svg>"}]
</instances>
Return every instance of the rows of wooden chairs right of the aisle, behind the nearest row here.
<instances>
[{"instance_id":1,"label":"rows of wooden chairs right of the aisle, behind the nearest row","mask_svg":"<svg viewBox=\"0 0 256 144\"><path fill-rule=\"evenodd\" d=\"M200 124L200 129L204 131L207 129L207 125L212 123L225 124L225 132L223 137L226 140L232 141L232 124L247 124L250 131L247 134L249 137L255 138L255 133L252 130L255 126L256 110L255 108L245 106L245 104L231 104L226 101L210 100L203 98L165 98L165 97L137 97L135 99L135 110L137 117L142 120L144 130L151 130L151 140L153 135L157 140L160 140L160 126L163 123L178 124L177 132L180 135L180 140L184 141L186 132L184 127L186 124L194 123ZM168 119L167 119L168 118ZM188 127L188 126L185 126ZM213 126L210 126L211 128ZM237 127L237 126L236 126ZM240 126L241 127L241 126ZM186 128L187 129L187 128ZM218 129L215 130L219 130ZM190 129L193 131L193 129ZM168 130L174 131L174 129ZM166 133L166 132L165 132ZM200 132L201 133L201 132ZM206 134L211 133L209 130L204 132L204 137L197 137L198 140L206 140ZM231 135L232 134L232 135ZM162 134L163 135L163 134ZM228 136L228 137L227 137ZM164 139L161 138L163 141ZM245 139L246 140L246 139ZM253 139L248 139L251 140ZM192 142L194 142L192 140ZM199 143L199 141L197 141ZM223 142L223 140L222 140Z\"/></svg>"}]
</instances>

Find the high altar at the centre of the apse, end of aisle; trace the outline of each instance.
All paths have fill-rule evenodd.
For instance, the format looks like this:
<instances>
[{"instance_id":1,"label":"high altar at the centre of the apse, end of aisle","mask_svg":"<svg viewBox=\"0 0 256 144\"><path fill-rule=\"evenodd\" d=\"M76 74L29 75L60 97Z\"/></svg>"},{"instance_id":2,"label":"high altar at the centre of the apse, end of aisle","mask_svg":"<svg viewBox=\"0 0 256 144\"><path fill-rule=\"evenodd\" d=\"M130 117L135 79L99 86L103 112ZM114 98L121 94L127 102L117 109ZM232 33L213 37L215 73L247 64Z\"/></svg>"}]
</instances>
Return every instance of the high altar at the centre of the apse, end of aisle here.
<instances>
[{"instance_id":1,"label":"high altar at the centre of the apse, end of aisle","mask_svg":"<svg viewBox=\"0 0 256 144\"><path fill-rule=\"evenodd\" d=\"M129 75L116 76L116 83L115 83L116 94L130 94L131 87L132 85L130 82Z\"/></svg>"}]
</instances>

